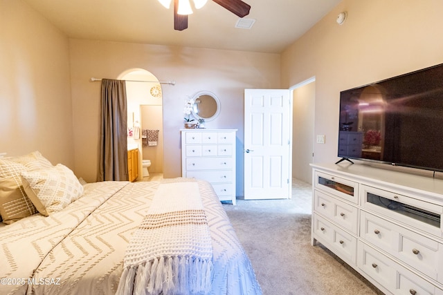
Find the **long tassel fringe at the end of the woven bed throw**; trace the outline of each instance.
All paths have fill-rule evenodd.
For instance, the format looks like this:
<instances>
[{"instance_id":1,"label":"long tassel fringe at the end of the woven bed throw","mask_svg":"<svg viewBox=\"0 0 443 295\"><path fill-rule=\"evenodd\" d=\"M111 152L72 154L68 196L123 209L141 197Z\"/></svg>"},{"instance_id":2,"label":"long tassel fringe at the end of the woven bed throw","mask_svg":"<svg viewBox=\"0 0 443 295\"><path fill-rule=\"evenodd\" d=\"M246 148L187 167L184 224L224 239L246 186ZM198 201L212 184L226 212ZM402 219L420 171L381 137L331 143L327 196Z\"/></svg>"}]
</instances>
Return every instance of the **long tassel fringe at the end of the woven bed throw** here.
<instances>
[{"instance_id":1,"label":"long tassel fringe at the end of the woven bed throw","mask_svg":"<svg viewBox=\"0 0 443 295\"><path fill-rule=\"evenodd\" d=\"M173 294L172 292L208 294L212 279L211 260L177 256L159 257L146 265L123 269L116 294L159 295Z\"/></svg>"}]
</instances>

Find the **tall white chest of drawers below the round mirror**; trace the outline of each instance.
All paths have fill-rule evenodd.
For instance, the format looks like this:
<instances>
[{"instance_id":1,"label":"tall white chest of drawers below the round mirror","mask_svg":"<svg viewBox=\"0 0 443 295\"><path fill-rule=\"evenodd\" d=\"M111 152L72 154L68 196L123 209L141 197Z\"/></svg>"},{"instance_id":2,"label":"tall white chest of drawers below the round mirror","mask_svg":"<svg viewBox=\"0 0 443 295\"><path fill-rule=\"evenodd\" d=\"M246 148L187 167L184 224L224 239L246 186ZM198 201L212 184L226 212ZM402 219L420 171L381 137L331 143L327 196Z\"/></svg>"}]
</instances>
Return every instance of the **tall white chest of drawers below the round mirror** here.
<instances>
[{"instance_id":1,"label":"tall white chest of drawers below the round mirror","mask_svg":"<svg viewBox=\"0 0 443 295\"><path fill-rule=\"evenodd\" d=\"M235 204L237 129L182 129L181 175L206 180L221 201Z\"/></svg>"}]
</instances>

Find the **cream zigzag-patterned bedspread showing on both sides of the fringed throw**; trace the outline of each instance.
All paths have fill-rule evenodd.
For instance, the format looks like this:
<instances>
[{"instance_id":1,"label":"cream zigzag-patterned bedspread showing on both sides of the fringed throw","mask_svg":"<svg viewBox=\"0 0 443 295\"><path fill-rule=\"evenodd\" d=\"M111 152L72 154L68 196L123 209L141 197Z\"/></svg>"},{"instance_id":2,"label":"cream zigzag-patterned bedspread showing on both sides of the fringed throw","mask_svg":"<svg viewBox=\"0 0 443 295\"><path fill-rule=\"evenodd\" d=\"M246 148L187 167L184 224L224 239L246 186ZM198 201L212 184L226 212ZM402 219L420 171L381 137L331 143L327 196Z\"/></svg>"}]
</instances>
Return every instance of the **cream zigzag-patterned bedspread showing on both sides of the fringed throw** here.
<instances>
[{"instance_id":1,"label":"cream zigzag-patterned bedspread showing on both sides of the fringed throw","mask_svg":"<svg viewBox=\"0 0 443 295\"><path fill-rule=\"evenodd\" d=\"M45 217L0 227L0 294L115 294L132 232L159 182L96 182ZM199 181L213 245L210 294L262 294L212 187ZM180 198L180 196L177 196Z\"/></svg>"}]
</instances>

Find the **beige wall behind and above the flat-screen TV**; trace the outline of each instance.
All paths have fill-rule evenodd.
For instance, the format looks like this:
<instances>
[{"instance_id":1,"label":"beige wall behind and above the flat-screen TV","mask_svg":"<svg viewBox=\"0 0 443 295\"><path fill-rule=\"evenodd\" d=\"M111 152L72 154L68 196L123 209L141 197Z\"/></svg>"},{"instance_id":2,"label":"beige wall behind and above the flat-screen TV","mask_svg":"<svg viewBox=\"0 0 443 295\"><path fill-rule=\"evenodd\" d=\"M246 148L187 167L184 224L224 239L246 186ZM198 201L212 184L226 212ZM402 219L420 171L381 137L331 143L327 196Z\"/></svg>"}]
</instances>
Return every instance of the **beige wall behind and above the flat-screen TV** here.
<instances>
[{"instance_id":1,"label":"beige wall behind and above the flat-screen TV","mask_svg":"<svg viewBox=\"0 0 443 295\"><path fill-rule=\"evenodd\" d=\"M342 26L335 19L347 11ZM314 162L338 160L340 91L443 63L443 1L344 0L282 53L282 87L316 77Z\"/></svg>"}]
</instances>

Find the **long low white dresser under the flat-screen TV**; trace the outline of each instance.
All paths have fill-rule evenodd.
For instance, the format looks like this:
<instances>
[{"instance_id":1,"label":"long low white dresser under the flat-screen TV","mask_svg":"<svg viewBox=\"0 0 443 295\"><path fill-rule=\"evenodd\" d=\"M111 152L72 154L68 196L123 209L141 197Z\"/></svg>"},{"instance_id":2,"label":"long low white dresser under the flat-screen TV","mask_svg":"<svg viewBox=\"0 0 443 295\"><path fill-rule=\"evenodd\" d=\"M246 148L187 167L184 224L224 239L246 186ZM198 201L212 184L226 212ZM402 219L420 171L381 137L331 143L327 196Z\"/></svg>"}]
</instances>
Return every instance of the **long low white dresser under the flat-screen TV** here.
<instances>
[{"instance_id":1,"label":"long low white dresser under the flat-screen TV","mask_svg":"<svg viewBox=\"0 0 443 295\"><path fill-rule=\"evenodd\" d=\"M311 164L311 243L386 294L443 294L443 180L363 164Z\"/></svg>"}]
</instances>

